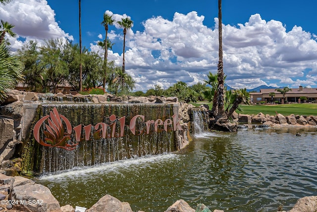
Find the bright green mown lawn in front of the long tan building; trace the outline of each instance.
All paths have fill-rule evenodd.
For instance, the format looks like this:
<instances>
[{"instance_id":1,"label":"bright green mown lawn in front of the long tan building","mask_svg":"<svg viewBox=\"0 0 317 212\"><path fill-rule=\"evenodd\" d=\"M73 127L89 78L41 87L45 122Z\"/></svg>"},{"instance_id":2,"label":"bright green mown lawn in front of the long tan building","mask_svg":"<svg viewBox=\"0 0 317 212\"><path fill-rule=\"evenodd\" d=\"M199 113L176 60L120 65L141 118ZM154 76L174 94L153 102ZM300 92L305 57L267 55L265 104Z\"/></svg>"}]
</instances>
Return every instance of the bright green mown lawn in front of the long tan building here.
<instances>
[{"instance_id":1,"label":"bright green mown lawn in front of the long tan building","mask_svg":"<svg viewBox=\"0 0 317 212\"><path fill-rule=\"evenodd\" d=\"M200 106L203 103L192 103L195 106ZM208 103L210 109L212 104ZM276 115L280 113L284 116L290 114L294 115L313 115L317 116L317 104L304 103L304 104L281 104L281 105L241 105L242 111L236 111L240 114L258 114L262 112L264 115ZM275 112L276 111L276 112Z\"/></svg>"}]
</instances>

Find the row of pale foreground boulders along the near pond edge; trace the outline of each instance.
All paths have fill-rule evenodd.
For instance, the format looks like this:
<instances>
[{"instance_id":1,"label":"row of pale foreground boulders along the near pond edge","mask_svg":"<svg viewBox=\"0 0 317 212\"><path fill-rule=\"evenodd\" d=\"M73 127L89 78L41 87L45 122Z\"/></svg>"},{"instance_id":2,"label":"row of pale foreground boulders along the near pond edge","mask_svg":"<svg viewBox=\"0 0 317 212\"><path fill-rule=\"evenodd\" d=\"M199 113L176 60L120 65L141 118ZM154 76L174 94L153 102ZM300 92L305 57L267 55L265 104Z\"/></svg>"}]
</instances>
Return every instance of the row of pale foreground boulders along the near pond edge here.
<instances>
[{"instance_id":1,"label":"row of pale foreground boulders along the near pond edge","mask_svg":"<svg viewBox=\"0 0 317 212\"><path fill-rule=\"evenodd\" d=\"M20 177L0 174L0 212L133 212L129 203L105 195L90 209L71 205L60 207L49 188ZM80 211L81 210L81 211ZM304 197L297 201L289 212L316 212L317 196ZM143 211L138 211L143 212ZM164 212L211 212L204 204L191 208L184 200L177 200ZM224 212L214 210L213 212Z\"/></svg>"}]
</instances>

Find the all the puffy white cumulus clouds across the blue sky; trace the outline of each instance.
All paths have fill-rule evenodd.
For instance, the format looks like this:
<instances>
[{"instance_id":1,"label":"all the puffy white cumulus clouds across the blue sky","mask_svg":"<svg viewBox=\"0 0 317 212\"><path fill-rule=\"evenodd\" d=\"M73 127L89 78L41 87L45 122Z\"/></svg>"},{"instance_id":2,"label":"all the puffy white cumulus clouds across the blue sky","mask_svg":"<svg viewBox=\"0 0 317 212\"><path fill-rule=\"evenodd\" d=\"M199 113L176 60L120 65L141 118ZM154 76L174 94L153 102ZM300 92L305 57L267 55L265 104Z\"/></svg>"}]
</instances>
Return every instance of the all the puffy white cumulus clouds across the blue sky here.
<instances>
[{"instance_id":1,"label":"all the puffy white cumulus clouds across the blue sky","mask_svg":"<svg viewBox=\"0 0 317 212\"><path fill-rule=\"evenodd\" d=\"M115 21L129 17L107 10ZM46 0L14 0L0 5L0 19L9 20L19 36L9 38L12 48L22 40L44 40L73 37L55 21L53 9ZM129 17L130 18L130 17ZM192 11L175 12L172 20L161 16L143 21L143 31L129 29L126 36L126 71L136 80L136 90L147 90L159 84L163 88L182 80L189 85L203 82L209 71L215 73L218 63L218 19L214 26L204 25L204 16ZM102 31L101 31L102 32ZM104 33L104 32L102 32ZM91 51L103 50L96 40L100 32L92 32ZM94 37L96 36L96 37ZM117 23L108 31L108 39L122 45L122 28ZM226 83L232 87L259 85L316 85L317 36L300 26L286 31L282 22L266 21L260 14L251 15L246 23L223 25L223 62ZM108 60L122 65L122 54L108 50ZM310 69L307 74L304 70Z\"/></svg>"}]
</instances>

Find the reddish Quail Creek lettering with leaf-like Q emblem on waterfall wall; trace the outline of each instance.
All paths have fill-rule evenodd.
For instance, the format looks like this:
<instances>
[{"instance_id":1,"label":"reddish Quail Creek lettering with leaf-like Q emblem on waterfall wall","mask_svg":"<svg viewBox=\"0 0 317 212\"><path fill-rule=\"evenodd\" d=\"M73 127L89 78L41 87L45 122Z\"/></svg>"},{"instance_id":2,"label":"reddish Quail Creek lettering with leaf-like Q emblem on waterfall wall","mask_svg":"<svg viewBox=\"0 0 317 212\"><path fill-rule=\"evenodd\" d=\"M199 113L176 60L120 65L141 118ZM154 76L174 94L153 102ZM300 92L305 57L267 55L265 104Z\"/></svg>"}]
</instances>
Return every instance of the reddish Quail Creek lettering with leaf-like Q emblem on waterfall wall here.
<instances>
[{"instance_id":1,"label":"reddish Quail Creek lettering with leaf-like Q emblem on waterfall wall","mask_svg":"<svg viewBox=\"0 0 317 212\"><path fill-rule=\"evenodd\" d=\"M153 130L156 133L183 130L178 120L178 114L174 114L172 119L165 119L164 121L161 119L145 121L144 115L136 115L130 120L129 125L125 125L125 122L125 116L117 118L115 115L111 115L108 117L107 123L98 123L95 126L80 124L72 127L69 120L59 114L54 107L49 115L44 116L35 124L33 135L41 145L73 150L81 141L90 141L92 136L103 139L124 137L127 128L135 136L148 135ZM143 127L137 130L137 125ZM43 126L43 136L45 138L41 138L40 133ZM74 136L72 136L73 132Z\"/></svg>"}]
</instances>

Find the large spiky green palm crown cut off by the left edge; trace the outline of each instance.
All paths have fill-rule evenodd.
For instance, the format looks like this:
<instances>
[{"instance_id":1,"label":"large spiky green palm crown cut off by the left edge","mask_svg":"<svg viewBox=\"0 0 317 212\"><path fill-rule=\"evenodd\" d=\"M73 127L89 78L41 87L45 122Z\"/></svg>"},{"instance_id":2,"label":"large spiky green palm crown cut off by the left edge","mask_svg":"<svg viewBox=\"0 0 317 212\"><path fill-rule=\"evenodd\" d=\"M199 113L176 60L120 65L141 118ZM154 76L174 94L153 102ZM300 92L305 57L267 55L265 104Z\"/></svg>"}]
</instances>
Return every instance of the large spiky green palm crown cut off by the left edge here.
<instances>
[{"instance_id":1,"label":"large spiky green palm crown cut off by the left edge","mask_svg":"<svg viewBox=\"0 0 317 212\"><path fill-rule=\"evenodd\" d=\"M23 80L23 69L23 63L11 55L11 49L4 43L0 44L0 102L4 101L8 88Z\"/></svg>"}]
</instances>

